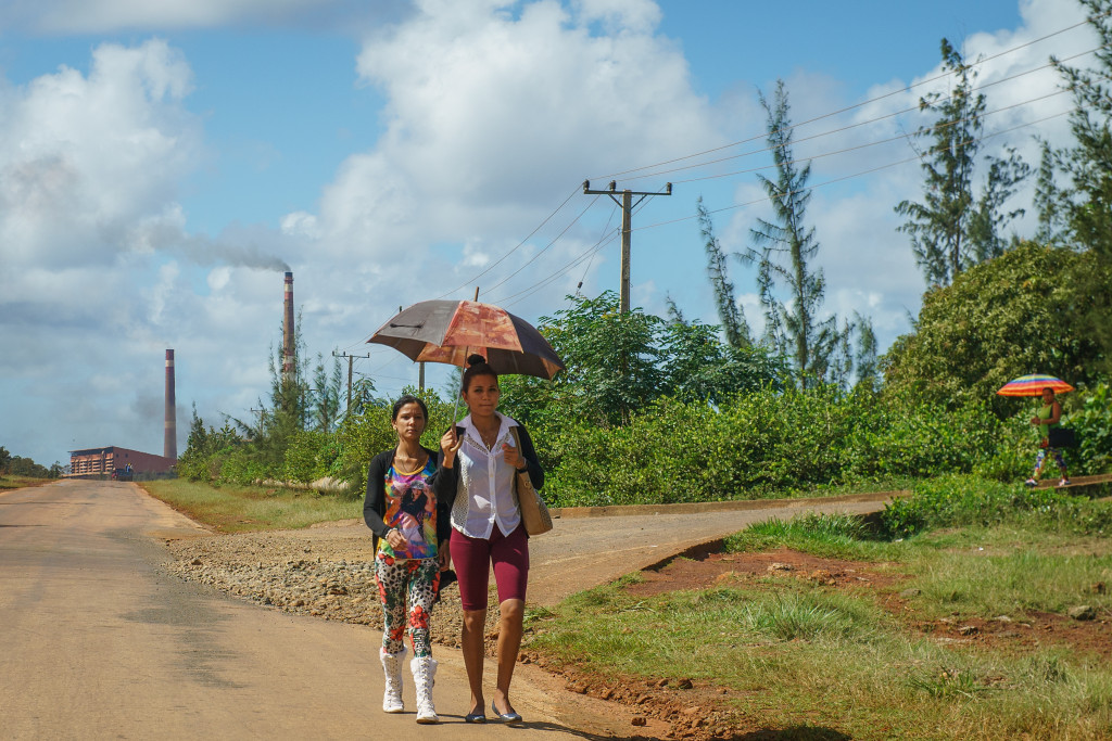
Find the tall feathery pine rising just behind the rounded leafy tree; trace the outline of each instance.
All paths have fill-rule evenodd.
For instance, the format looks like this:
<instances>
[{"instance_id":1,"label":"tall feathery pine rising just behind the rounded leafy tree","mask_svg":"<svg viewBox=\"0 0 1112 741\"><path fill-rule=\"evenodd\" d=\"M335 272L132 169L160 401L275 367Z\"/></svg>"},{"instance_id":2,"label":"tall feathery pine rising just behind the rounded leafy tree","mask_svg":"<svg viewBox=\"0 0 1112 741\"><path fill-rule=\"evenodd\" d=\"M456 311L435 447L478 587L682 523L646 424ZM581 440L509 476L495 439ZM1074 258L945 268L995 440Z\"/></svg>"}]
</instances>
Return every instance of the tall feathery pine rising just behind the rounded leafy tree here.
<instances>
[{"instance_id":1,"label":"tall feathery pine rising just behind the rounded leafy tree","mask_svg":"<svg viewBox=\"0 0 1112 741\"><path fill-rule=\"evenodd\" d=\"M905 200L895 208L907 217L897 229L911 237L915 261L931 286L949 286L962 270L1003 252L1000 231L1023 211L1001 209L1030 171L1014 150L1006 159L989 158L985 186L981 197L974 197L985 97L974 93L976 71L945 39L942 68L955 78L951 93L934 92L919 101L921 111L937 116L933 126L915 132L915 138L932 142L922 152L923 202Z\"/></svg>"}]
</instances>

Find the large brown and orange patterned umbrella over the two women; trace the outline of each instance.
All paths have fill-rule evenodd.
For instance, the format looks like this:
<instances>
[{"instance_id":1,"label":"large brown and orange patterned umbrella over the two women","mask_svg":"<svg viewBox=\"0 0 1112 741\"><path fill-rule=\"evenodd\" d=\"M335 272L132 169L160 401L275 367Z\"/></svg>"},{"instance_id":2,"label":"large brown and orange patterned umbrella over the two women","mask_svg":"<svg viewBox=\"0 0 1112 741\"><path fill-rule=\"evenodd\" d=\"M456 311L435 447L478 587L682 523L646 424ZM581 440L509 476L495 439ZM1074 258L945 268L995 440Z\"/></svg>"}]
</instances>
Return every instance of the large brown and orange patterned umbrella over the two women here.
<instances>
[{"instance_id":1,"label":"large brown and orange patterned umbrella over the two women","mask_svg":"<svg viewBox=\"0 0 1112 741\"><path fill-rule=\"evenodd\" d=\"M418 362L467 366L478 353L496 373L552 378L564 361L533 324L478 301L421 301L378 328L368 342Z\"/></svg>"}]
</instances>

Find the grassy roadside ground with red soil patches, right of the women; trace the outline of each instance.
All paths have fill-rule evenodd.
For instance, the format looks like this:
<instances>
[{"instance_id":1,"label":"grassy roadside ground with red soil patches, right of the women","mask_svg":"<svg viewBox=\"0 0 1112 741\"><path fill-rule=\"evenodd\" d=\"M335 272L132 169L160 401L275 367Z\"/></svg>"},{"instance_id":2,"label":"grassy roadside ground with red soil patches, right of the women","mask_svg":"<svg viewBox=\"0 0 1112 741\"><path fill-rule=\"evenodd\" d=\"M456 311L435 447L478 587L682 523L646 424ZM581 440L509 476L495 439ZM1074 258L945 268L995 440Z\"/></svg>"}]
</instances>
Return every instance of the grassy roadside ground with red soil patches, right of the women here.
<instances>
[{"instance_id":1,"label":"grassy roadside ground with red soil patches, right of the women","mask_svg":"<svg viewBox=\"0 0 1112 741\"><path fill-rule=\"evenodd\" d=\"M907 527L909 512L920 525ZM1109 738L1110 534L1108 501L951 478L917 487L870 524L808 515L726 542L729 558L791 549L868 580L726 572L645 595L633 574L534 612L526 650L594 688L692 680L681 702L716 719L712 729ZM1070 618L1078 605L1092 619ZM1090 629L1080 642L1071 624Z\"/></svg>"}]
</instances>

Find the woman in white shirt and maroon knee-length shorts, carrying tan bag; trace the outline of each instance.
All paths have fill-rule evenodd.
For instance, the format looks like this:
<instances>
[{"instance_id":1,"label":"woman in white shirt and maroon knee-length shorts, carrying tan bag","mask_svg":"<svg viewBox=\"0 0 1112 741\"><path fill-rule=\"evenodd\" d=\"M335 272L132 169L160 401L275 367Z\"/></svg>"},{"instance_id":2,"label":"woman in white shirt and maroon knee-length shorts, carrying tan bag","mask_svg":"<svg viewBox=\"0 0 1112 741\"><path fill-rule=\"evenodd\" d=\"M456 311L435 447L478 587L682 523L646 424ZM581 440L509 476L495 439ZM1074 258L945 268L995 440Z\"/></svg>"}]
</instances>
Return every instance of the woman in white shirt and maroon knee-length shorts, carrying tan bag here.
<instances>
[{"instance_id":1,"label":"woman in white shirt and maroon knee-length shorts, carrying tan bag","mask_svg":"<svg viewBox=\"0 0 1112 741\"><path fill-rule=\"evenodd\" d=\"M467 361L460 393L469 414L440 438L440 465L434 483L437 500L451 512L451 558L464 609L464 664L471 690L470 710L464 719L468 723L486 721L484 625L493 564L500 622L498 678L490 710L502 722L518 724L522 717L510 703L509 683L522 643L529 547L514 479L528 471L539 490L545 474L525 428L497 412L497 373L481 356Z\"/></svg>"}]
</instances>

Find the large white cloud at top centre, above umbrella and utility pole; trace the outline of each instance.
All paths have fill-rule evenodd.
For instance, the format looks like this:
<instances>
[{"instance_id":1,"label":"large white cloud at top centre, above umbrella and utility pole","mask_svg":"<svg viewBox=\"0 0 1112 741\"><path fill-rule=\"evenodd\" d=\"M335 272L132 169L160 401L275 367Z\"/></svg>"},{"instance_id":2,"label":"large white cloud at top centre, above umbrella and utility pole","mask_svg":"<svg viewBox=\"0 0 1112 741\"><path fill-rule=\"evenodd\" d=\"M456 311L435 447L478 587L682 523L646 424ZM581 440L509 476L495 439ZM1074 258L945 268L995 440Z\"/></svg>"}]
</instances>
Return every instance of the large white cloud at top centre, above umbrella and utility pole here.
<instances>
[{"instance_id":1,"label":"large white cloud at top centre, above umbrella and utility pole","mask_svg":"<svg viewBox=\"0 0 1112 741\"><path fill-rule=\"evenodd\" d=\"M419 224L424 243L519 239L586 174L717 139L685 60L644 27L644 13L595 37L587 24L597 13L550 1L519 18L505 2L418 4L359 56L363 79L387 94L388 128L327 189L330 238L375 233L381 249L411 240Z\"/></svg>"}]
</instances>

